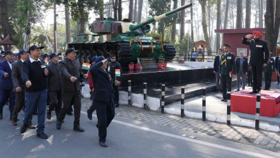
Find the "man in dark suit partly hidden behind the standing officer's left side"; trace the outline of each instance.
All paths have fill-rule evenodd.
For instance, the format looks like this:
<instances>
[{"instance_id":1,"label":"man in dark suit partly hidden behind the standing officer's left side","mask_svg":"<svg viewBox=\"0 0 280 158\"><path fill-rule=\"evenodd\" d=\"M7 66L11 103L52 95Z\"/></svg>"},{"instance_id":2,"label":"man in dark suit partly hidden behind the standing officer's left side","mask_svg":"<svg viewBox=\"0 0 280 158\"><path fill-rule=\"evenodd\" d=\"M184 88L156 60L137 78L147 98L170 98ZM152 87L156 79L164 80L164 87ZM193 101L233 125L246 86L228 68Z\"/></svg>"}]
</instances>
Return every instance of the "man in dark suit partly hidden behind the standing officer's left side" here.
<instances>
[{"instance_id":1,"label":"man in dark suit partly hidden behind the standing officer's left side","mask_svg":"<svg viewBox=\"0 0 280 158\"><path fill-rule=\"evenodd\" d=\"M215 56L214 65L213 65L213 73L216 76L216 91L222 91L222 79L219 77L219 63L221 62L221 56L223 53L223 49L218 50L218 55Z\"/></svg>"}]
</instances>

